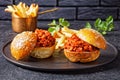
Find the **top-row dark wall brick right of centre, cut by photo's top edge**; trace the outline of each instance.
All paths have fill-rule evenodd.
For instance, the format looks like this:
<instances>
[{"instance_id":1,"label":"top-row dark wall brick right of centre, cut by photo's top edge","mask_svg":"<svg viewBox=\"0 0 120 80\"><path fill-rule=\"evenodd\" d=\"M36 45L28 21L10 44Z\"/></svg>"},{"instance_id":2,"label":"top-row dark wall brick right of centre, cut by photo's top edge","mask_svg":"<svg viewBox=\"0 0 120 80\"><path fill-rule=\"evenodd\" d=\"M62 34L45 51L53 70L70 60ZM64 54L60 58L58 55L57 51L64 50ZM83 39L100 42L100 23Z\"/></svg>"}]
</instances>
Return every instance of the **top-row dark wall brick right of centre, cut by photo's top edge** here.
<instances>
[{"instance_id":1,"label":"top-row dark wall brick right of centre, cut by photo's top edge","mask_svg":"<svg viewBox=\"0 0 120 80\"><path fill-rule=\"evenodd\" d=\"M58 0L59 6L95 6L99 0Z\"/></svg>"}]
</instances>

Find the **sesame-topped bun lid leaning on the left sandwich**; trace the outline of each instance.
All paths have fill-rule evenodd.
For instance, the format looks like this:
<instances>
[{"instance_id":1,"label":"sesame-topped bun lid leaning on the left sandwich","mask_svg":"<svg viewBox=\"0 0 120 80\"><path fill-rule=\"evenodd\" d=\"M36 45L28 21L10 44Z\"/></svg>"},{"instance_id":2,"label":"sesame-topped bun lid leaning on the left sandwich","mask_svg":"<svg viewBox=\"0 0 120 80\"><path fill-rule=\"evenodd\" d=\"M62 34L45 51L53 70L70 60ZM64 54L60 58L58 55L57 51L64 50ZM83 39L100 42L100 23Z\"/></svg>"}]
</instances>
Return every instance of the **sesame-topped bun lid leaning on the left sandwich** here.
<instances>
[{"instance_id":1,"label":"sesame-topped bun lid leaning on the left sandwich","mask_svg":"<svg viewBox=\"0 0 120 80\"><path fill-rule=\"evenodd\" d=\"M11 54L16 60L23 59L30 54L36 43L37 37L35 33L31 31L19 33L11 43Z\"/></svg>"}]
</instances>

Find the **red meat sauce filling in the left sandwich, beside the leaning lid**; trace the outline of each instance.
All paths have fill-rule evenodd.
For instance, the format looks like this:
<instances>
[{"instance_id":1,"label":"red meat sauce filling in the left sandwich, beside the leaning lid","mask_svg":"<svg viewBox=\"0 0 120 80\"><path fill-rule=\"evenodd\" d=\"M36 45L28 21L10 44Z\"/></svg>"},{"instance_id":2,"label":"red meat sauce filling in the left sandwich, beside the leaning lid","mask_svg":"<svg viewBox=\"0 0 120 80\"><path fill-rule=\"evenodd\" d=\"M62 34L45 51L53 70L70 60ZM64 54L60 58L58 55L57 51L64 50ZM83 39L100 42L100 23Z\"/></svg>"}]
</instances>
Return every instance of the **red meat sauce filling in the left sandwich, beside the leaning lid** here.
<instances>
[{"instance_id":1,"label":"red meat sauce filling in the left sandwich, beside the leaning lid","mask_svg":"<svg viewBox=\"0 0 120 80\"><path fill-rule=\"evenodd\" d=\"M55 44L55 38L47 30L36 29L37 47L51 47Z\"/></svg>"}]
</instances>

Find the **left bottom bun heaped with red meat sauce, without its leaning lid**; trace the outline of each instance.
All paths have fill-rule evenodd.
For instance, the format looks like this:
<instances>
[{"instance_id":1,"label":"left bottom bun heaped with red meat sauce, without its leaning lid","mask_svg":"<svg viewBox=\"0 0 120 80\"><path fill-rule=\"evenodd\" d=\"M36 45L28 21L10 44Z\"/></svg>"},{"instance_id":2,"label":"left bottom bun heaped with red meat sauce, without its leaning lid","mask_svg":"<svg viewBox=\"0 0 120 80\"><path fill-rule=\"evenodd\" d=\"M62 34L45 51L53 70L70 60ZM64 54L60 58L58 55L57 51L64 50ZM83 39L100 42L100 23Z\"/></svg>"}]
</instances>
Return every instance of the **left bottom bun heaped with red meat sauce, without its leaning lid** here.
<instances>
[{"instance_id":1,"label":"left bottom bun heaped with red meat sauce, without its leaning lid","mask_svg":"<svg viewBox=\"0 0 120 80\"><path fill-rule=\"evenodd\" d=\"M30 55L35 58L50 57L55 49L55 38L47 30L36 29L35 34L37 44Z\"/></svg>"}]
</instances>

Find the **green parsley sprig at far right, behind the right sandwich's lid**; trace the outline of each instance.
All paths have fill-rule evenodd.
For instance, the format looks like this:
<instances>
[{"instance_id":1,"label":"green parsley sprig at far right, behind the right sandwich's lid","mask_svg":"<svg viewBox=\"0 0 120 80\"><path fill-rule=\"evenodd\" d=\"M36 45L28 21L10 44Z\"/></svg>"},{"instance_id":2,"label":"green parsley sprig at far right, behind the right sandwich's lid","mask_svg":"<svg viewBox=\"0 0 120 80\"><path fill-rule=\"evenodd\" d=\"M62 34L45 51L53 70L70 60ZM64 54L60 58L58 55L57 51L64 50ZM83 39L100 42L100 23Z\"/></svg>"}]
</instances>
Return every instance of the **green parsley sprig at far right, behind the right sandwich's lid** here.
<instances>
[{"instance_id":1,"label":"green parsley sprig at far right, behind the right sandwich's lid","mask_svg":"<svg viewBox=\"0 0 120 80\"><path fill-rule=\"evenodd\" d=\"M89 22L87 22L85 27L92 28L92 25ZM105 21L102 21L100 18L98 18L94 22L93 27L102 35L105 35L107 34L107 32L112 31L114 28L113 17L109 16L105 19Z\"/></svg>"}]
</instances>

